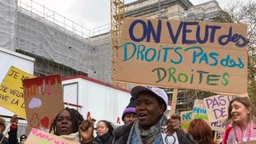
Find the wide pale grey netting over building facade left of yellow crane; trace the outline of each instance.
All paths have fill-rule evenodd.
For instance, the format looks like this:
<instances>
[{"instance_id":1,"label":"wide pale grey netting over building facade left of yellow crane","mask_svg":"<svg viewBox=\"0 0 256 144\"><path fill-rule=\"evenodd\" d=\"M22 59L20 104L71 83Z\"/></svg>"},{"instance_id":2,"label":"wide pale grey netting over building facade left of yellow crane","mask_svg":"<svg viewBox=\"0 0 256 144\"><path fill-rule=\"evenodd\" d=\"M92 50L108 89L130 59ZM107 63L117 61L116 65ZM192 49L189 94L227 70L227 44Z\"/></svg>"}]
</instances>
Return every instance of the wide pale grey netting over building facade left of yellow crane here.
<instances>
[{"instance_id":1,"label":"wide pale grey netting over building facade left of yellow crane","mask_svg":"<svg viewBox=\"0 0 256 144\"><path fill-rule=\"evenodd\" d=\"M35 13L17 12L15 49L45 57L83 71L88 77L111 83L110 33L81 37Z\"/></svg>"}]
</instances>

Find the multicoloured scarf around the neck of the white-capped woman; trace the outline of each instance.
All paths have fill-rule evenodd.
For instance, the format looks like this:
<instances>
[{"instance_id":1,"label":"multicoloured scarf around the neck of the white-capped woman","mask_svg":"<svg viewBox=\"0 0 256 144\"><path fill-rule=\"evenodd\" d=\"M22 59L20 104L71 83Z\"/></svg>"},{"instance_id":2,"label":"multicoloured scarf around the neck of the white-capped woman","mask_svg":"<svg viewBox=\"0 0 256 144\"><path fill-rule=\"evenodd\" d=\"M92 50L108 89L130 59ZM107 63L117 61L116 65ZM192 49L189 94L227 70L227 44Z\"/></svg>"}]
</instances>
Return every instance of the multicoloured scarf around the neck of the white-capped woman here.
<instances>
[{"instance_id":1,"label":"multicoloured scarf around the neck of the white-capped woman","mask_svg":"<svg viewBox=\"0 0 256 144\"><path fill-rule=\"evenodd\" d=\"M131 127L131 131L128 137L127 144L163 144L163 138L161 136L161 126L166 125L167 117L162 115L157 125L151 127L148 131L143 131L139 120L136 120Z\"/></svg>"}]
</instances>

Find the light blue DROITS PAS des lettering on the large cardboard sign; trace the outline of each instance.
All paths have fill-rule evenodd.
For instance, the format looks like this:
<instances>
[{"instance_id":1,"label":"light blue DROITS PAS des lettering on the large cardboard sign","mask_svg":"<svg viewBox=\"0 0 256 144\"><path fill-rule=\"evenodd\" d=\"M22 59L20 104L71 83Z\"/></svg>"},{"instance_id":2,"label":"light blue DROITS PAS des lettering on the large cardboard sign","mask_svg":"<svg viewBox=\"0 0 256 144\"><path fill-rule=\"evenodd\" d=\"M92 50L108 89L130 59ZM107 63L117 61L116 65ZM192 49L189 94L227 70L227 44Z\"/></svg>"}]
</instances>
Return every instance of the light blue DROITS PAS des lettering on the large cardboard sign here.
<instances>
[{"instance_id":1,"label":"light blue DROITS PAS des lettering on the large cardboard sign","mask_svg":"<svg viewBox=\"0 0 256 144\"><path fill-rule=\"evenodd\" d=\"M133 50L129 50L129 51L133 51L132 55L130 57L128 57L127 54L127 47L128 45L132 45L133 46ZM127 61L131 58L134 57L134 55L137 53L137 60L139 60L139 57L141 57L141 61L154 61L155 57L157 56L157 61L160 60L160 54L161 54L161 49L163 49L164 55L163 55L163 62L165 63L167 61L167 56L171 55L169 53L169 51L173 50L177 55L179 55L179 59L177 61L174 61L173 59L170 59L169 61L171 61L171 63L174 64L180 64L183 61L183 56L181 55L180 51L182 50L181 47L163 47L161 49L159 49L158 53L156 49L150 48L150 49L146 49L145 45L139 45L138 46L138 50L137 50L137 46L135 45L135 43L125 43L124 45L121 45L121 48L124 47L124 59L123 61ZM189 47L187 49L185 49L184 51L189 51L193 49L193 59L192 59L192 63L196 63L197 62L197 57L199 57L199 64L201 63L205 63L206 65L211 65L211 66L216 66L218 64L218 59L217 57L219 56L218 53L209 53L209 55L207 55L207 53L203 52L203 49L201 47ZM180 51L178 51L180 50ZM199 51L198 51L199 50ZM149 57L148 54L152 53L153 55L152 57ZM169 53L168 53L169 52ZM144 54L145 53L145 54ZM209 63L209 59L213 59L213 61L215 61L214 63ZM230 59L230 56L227 55L227 59L221 59L220 64L223 67L239 67L240 69L242 69L243 67L245 67L245 65L243 64L243 62L241 61L241 59L239 57L237 57L238 62L236 62L234 59ZM228 75L229 76L229 75Z\"/></svg>"}]
</instances>

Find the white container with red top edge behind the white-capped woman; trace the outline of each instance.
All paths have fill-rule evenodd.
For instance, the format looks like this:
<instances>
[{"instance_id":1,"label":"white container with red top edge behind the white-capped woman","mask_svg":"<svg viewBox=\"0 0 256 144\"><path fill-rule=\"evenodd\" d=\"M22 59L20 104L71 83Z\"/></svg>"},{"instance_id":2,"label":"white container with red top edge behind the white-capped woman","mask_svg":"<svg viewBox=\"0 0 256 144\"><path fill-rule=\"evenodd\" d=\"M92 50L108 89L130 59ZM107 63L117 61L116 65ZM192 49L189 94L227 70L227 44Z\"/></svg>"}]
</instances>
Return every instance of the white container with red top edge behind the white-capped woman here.
<instances>
[{"instance_id":1,"label":"white container with red top edge behind the white-capped woman","mask_svg":"<svg viewBox=\"0 0 256 144\"><path fill-rule=\"evenodd\" d=\"M62 84L64 102L83 106L69 107L77 109L84 119L91 117L97 121L110 121L116 126L123 125L123 110L131 99L129 90L81 75L65 78Z\"/></svg>"}]
</instances>

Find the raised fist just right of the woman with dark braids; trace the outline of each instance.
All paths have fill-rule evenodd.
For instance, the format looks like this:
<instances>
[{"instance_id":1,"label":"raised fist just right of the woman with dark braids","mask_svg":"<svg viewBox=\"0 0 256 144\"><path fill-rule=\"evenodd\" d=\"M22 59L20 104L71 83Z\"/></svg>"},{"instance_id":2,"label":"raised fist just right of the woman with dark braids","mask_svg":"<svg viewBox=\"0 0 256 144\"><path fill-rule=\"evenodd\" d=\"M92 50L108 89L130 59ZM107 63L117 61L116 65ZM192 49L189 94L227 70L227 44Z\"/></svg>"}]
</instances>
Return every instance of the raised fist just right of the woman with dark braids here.
<instances>
[{"instance_id":1,"label":"raised fist just right of the woman with dark braids","mask_svg":"<svg viewBox=\"0 0 256 144\"><path fill-rule=\"evenodd\" d=\"M93 141L93 129L93 121L91 121L91 119L87 119L81 123L79 126L79 133L82 138L82 143Z\"/></svg>"}]
</instances>

